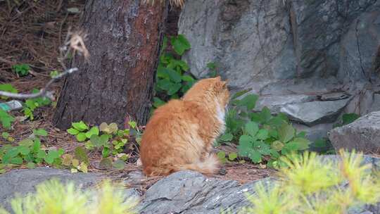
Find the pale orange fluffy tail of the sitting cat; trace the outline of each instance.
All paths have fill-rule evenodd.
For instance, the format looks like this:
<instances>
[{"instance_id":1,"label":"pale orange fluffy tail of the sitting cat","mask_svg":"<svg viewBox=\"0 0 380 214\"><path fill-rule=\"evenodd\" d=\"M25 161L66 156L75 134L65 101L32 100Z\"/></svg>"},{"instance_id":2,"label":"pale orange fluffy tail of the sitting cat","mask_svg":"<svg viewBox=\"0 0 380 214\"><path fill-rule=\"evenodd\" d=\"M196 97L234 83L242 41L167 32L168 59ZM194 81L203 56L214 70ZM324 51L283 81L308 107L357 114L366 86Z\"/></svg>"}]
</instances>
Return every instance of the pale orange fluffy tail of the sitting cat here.
<instances>
[{"instance_id":1,"label":"pale orange fluffy tail of the sitting cat","mask_svg":"<svg viewBox=\"0 0 380 214\"><path fill-rule=\"evenodd\" d=\"M214 154L210 154L205 160L196 163L189 163L185 165L176 165L176 171L179 170L194 170L201 172L205 175L213 175L220 168L220 160Z\"/></svg>"}]
</instances>

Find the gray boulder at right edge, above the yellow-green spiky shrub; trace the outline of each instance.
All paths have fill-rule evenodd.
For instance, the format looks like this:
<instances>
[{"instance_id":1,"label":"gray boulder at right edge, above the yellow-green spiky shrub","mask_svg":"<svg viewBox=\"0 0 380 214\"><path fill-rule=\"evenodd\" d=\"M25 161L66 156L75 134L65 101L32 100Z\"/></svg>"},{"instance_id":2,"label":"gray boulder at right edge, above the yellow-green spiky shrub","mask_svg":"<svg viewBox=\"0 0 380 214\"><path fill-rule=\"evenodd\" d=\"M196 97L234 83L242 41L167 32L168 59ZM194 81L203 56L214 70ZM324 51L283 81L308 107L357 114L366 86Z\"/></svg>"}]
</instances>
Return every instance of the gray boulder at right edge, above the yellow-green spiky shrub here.
<instances>
[{"instance_id":1,"label":"gray boulder at right edge, above the yellow-green spiky shrub","mask_svg":"<svg viewBox=\"0 0 380 214\"><path fill-rule=\"evenodd\" d=\"M329 133L334 149L377 152L380 149L380 111L369 113Z\"/></svg>"}]
</instances>

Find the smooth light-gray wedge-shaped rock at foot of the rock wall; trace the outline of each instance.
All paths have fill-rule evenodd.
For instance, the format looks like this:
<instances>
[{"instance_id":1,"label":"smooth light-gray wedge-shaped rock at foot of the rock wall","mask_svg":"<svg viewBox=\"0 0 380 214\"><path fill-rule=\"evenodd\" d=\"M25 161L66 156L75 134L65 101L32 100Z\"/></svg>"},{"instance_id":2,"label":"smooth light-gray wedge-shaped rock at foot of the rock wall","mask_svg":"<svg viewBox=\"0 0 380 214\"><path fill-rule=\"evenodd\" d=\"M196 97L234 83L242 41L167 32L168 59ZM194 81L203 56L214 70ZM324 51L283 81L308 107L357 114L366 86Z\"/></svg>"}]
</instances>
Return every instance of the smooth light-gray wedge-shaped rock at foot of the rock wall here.
<instances>
[{"instance_id":1,"label":"smooth light-gray wedge-shaped rock at foot of the rock wall","mask_svg":"<svg viewBox=\"0 0 380 214\"><path fill-rule=\"evenodd\" d=\"M339 113L346 106L349 99L337 101L312 101L308 103L289 104L280 109L281 113L288 115L291 120L305 125L334 122Z\"/></svg>"}]
</instances>

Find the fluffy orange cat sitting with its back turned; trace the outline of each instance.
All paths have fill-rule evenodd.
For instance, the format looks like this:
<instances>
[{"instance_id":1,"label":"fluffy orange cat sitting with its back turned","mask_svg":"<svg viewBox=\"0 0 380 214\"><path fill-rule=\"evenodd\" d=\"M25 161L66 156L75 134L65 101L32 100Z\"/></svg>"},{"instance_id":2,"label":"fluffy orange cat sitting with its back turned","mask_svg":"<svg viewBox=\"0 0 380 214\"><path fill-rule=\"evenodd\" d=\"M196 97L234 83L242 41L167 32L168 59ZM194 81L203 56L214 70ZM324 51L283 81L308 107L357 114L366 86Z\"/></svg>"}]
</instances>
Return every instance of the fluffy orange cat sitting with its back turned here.
<instances>
[{"instance_id":1,"label":"fluffy orange cat sitting with its back turned","mask_svg":"<svg viewBox=\"0 0 380 214\"><path fill-rule=\"evenodd\" d=\"M196 82L182 99L154 111L141 139L141 163L148 176L195 170L217 172L220 162L210 154L215 139L224 132L229 101L227 82L220 77Z\"/></svg>"}]
</instances>

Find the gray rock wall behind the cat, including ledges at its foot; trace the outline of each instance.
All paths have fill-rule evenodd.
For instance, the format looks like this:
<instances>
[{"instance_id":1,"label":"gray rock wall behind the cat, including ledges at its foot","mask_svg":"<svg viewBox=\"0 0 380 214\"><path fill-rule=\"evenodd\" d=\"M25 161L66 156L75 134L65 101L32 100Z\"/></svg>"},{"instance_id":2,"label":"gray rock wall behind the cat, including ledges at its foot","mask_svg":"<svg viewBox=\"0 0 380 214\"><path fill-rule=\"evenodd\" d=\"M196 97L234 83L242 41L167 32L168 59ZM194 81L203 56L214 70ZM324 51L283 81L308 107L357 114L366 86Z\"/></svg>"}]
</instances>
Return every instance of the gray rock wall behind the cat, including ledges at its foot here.
<instances>
[{"instance_id":1,"label":"gray rock wall behind the cat, including ledges at its foot","mask_svg":"<svg viewBox=\"0 0 380 214\"><path fill-rule=\"evenodd\" d=\"M193 75L216 63L235 91L260 96L257 110L284 108L316 125L380 109L379 0L186 1L179 33L191 43L184 60ZM346 96L324 99L336 92ZM321 109L310 118L302 108L313 104Z\"/></svg>"}]
</instances>

